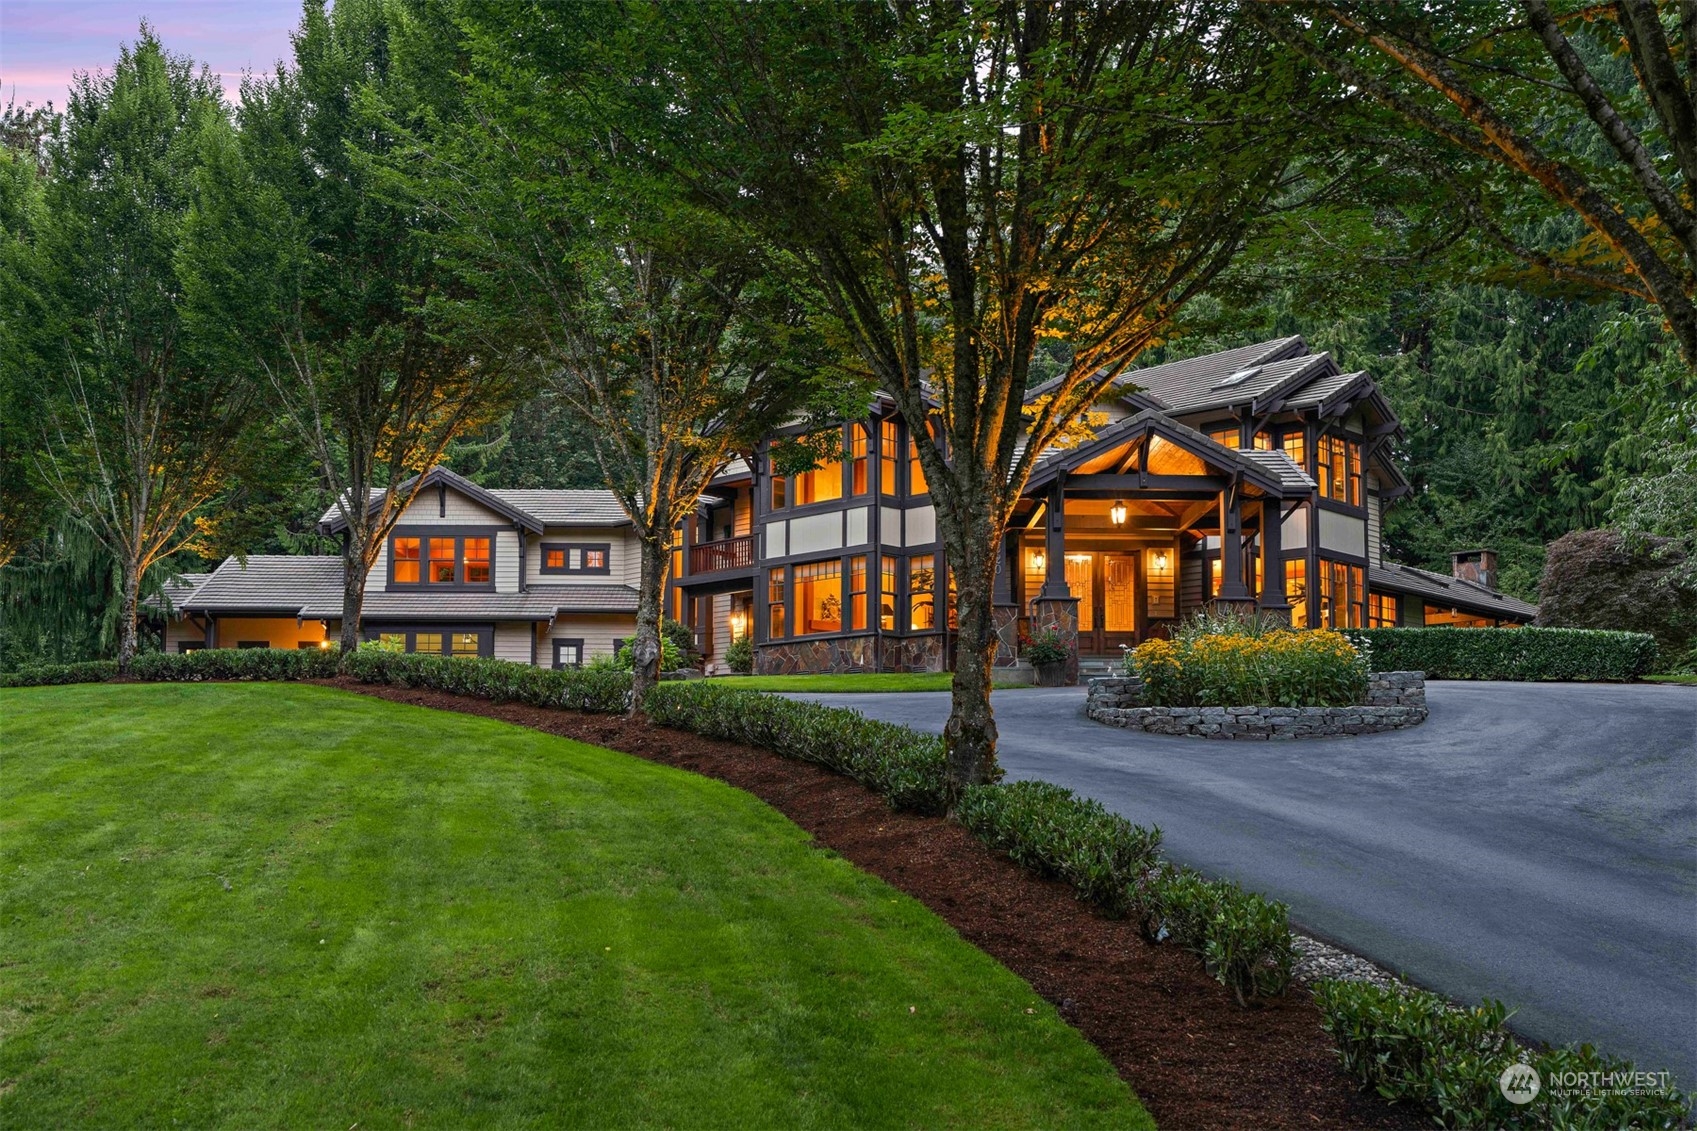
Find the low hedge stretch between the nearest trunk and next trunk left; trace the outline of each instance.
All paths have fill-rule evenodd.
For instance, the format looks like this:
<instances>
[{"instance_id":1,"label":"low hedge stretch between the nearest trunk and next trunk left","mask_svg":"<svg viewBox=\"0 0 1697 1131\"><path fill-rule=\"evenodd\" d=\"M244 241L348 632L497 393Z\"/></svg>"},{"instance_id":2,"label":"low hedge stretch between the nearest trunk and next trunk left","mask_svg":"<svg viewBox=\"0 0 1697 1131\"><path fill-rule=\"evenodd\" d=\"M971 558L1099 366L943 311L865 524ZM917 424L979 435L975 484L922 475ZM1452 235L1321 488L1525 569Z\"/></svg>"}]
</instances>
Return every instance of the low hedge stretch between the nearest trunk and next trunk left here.
<instances>
[{"instance_id":1,"label":"low hedge stretch between the nearest trunk and next trunk left","mask_svg":"<svg viewBox=\"0 0 1697 1131\"><path fill-rule=\"evenodd\" d=\"M786 700L706 679L664 683L648 693L648 718L709 739L759 746L815 762L881 793L898 810L947 808L944 740L860 712Z\"/></svg>"}]
</instances>

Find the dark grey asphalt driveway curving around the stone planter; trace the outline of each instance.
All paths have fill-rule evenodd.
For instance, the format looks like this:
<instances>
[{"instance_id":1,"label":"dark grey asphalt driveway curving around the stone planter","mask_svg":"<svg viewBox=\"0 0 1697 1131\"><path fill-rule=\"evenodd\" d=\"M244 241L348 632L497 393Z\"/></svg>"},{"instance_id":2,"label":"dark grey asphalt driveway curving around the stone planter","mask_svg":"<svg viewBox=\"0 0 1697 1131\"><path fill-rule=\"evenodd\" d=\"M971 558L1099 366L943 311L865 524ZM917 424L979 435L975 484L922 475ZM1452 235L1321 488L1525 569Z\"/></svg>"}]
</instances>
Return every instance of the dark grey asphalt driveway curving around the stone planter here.
<instances>
[{"instance_id":1,"label":"dark grey asphalt driveway curving around the stone planter","mask_svg":"<svg viewBox=\"0 0 1697 1131\"><path fill-rule=\"evenodd\" d=\"M942 730L945 693L816 696ZM1405 732L1145 735L1078 688L998 691L1010 778L1157 824L1173 859L1514 1026L1697 1087L1697 689L1432 683Z\"/></svg>"}]
</instances>

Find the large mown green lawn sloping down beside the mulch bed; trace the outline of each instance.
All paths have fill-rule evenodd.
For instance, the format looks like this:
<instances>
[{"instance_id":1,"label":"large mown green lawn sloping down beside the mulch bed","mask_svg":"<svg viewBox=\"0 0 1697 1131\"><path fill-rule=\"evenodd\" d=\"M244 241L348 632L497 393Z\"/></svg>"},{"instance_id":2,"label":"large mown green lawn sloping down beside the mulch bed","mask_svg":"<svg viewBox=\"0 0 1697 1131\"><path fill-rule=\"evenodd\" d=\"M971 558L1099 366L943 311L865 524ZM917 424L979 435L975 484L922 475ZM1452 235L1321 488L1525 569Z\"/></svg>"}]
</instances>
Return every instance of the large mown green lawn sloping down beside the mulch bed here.
<instances>
[{"instance_id":1,"label":"large mown green lawn sloping down beside the mulch bed","mask_svg":"<svg viewBox=\"0 0 1697 1131\"><path fill-rule=\"evenodd\" d=\"M0 693L0 1126L1151 1126L725 785L300 684Z\"/></svg>"}]
</instances>

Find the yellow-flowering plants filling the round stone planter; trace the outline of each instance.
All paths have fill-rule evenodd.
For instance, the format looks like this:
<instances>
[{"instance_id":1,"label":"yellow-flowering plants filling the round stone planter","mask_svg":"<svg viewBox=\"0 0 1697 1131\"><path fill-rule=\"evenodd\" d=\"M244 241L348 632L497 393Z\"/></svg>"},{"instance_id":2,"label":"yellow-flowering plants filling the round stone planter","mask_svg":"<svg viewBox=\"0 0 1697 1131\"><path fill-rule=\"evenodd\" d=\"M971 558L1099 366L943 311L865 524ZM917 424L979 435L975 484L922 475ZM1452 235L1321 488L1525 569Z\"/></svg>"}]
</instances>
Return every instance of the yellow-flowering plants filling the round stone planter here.
<instances>
[{"instance_id":1,"label":"yellow-flowering plants filling the round stone planter","mask_svg":"<svg viewBox=\"0 0 1697 1131\"><path fill-rule=\"evenodd\" d=\"M1368 654L1342 633L1215 618L1127 656L1151 706L1349 706L1368 693Z\"/></svg>"}]
</instances>

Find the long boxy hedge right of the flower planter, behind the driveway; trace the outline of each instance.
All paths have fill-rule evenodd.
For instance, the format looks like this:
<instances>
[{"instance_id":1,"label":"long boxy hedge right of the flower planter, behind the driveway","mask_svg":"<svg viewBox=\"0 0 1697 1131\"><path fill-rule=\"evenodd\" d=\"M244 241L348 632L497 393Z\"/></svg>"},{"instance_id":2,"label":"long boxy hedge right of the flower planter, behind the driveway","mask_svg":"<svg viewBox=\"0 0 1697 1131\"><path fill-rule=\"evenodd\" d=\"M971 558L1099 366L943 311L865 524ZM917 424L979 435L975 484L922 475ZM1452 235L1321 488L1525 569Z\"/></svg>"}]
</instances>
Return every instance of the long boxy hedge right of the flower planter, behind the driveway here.
<instances>
[{"instance_id":1,"label":"long boxy hedge right of the flower planter, behind the driveway","mask_svg":"<svg viewBox=\"0 0 1697 1131\"><path fill-rule=\"evenodd\" d=\"M1346 628L1373 671L1427 679L1638 679L1656 662L1646 632L1599 628Z\"/></svg>"}]
</instances>

